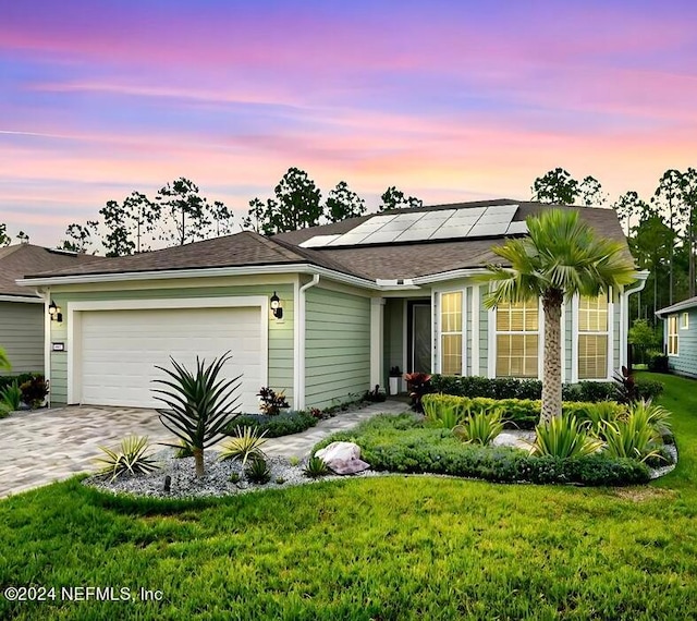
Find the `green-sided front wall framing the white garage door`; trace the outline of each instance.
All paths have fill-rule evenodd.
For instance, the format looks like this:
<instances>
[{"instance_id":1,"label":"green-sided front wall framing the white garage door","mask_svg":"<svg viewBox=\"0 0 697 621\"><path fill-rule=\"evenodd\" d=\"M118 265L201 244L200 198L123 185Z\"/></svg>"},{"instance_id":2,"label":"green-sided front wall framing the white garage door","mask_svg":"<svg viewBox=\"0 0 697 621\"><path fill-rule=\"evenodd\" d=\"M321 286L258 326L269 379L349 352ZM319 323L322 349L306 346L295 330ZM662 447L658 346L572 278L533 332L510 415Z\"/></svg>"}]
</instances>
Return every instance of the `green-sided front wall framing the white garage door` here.
<instances>
[{"instance_id":1,"label":"green-sided front wall framing the white garage door","mask_svg":"<svg viewBox=\"0 0 697 621\"><path fill-rule=\"evenodd\" d=\"M268 352L268 383L274 390L284 390L293 404L293 320L295 307L293 302L293 285L220 285L186 289L152 289L133 291L95 291L95 292L61 292L60 287L51 290L51 299L62 307L63 321L51 322L51 340L68 343L68 306L70 302L109 301L109 300L169 300L184 297L223 297L266 295L276 291L283 306L283 320L269 319L269 352ZM233 352L234 355L234 352ZM260 388L260 387L259 387ZM68 401L68 353L51 353L51 403L63 404Z\"/></svg>"}]
</instances>

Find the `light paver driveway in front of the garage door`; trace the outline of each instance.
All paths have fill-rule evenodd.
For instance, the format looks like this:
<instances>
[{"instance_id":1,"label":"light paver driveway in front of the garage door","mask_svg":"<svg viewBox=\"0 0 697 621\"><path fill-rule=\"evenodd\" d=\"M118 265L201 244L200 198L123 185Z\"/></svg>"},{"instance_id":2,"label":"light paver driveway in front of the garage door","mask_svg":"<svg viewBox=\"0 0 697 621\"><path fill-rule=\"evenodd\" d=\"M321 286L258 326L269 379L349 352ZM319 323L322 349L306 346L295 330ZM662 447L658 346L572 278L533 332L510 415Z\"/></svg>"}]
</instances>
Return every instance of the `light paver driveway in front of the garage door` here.
<instances>
[{"instance_id":1,"label":"light paver driveway in front of the garage door","mask_svg":"<svg viewBox=\"0 0 697 621\"><path fill-rule=\"evenodd\" d=\"M78 472L98 470L99 446L115 448L129 435L174 441L154 410L73 405L15 412L0 421L0 497Z\"/></svg>"}]
</instances>

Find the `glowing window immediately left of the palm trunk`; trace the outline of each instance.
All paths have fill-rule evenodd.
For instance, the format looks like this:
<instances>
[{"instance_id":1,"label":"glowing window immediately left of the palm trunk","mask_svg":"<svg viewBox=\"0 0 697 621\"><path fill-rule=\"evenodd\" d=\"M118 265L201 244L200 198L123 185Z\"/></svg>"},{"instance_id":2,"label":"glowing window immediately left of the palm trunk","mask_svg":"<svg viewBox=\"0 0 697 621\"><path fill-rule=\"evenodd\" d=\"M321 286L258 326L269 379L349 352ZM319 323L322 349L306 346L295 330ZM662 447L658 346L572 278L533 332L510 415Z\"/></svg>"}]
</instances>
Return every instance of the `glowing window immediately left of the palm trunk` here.
<instances>
[{"instance_id":1,"label":"glowing window immediately left of the palm trunk","mask_svg":"<svg viewBox=\"0 0 697 621\"><path fill-rule=\"evenodd\" d=\"M537 377L539 305L537 300L497 307L497 377Z\"/></svg>"}]
</instances>

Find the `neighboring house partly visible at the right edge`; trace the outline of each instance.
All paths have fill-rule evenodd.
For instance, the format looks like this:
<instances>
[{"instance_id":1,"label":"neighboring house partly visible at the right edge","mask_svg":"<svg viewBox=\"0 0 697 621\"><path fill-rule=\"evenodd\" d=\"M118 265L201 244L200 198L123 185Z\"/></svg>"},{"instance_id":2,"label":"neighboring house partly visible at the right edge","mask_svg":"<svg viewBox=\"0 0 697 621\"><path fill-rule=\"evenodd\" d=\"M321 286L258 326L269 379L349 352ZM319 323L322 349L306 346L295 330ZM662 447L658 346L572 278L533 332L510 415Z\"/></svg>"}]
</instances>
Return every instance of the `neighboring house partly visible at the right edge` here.
<instances>
[{"instance_id":1,"label":"neighboring house partly visible at the right edge","mask_svg":"<svg viewBox=\"0 0 697 621\"><path fill-rule=\"evenodd\" d=\"M697 297L661 308L656 316L663 319L668 368L697 377Z\"/></svg>"}]
</instances>

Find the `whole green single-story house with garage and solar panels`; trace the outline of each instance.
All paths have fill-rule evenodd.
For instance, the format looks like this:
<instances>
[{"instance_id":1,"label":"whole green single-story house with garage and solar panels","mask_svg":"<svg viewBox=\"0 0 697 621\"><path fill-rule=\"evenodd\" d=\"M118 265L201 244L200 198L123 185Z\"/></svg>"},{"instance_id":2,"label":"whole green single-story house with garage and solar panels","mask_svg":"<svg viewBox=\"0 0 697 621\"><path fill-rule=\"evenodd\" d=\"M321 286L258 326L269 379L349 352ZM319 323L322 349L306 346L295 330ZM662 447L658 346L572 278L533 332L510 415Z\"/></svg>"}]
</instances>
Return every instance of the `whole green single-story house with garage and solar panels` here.
<instances>
[{"instance_id":1,"label":"whole green single-story house with garage and solar panels","mask_svg":"<svg viewBox=\"0 0 697 621\"><path fill-rule=\"evenodd\" d=\"M387 383L392 366L451 375L541 377L535 302L487 310L476 281L493 244L549 206L489 200L368 215L265 238L245 231L27 276L63 308L51 322L54 403L152 406L155 365L231 350L242 409L261 386L295 409ZM571 209L571 207L563 207ZM582 208L624 242L612 209ZM628 249L627 249L628 253ZM644 276L645 278L645 276ZM640 280L635 290L641 289ZM573 299L562 316L564 381L612 377L626 357L631 291ZM276 316L271 302L280 300ZM273 300L272 300L273 299ZM62 344L62 345L61 345Z\"/></svg>"}]
</instances>

